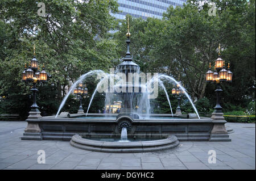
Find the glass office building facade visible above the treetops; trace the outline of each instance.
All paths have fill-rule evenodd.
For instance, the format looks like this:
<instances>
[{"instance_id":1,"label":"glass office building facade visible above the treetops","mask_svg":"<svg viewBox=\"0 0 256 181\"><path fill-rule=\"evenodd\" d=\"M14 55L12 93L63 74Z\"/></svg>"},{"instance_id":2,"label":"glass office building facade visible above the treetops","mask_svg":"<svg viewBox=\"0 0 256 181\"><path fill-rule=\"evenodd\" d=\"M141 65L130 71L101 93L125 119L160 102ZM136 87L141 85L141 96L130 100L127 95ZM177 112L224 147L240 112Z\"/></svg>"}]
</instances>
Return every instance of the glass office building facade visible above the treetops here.
<instances>
[{"instance_id":1,"label":"glass office building facade visible above the treetops","mask_svg":"<svg viewBox=\"0 0 256 181\"><path fill-rule=\"evenodd\" d=\"M112 15L117 19L125 19L127 14L142 19L162 18L163 12L170 5L182 7L185 2L186 0L118 0L120 12Z\"/></svg>"}]
</instances>

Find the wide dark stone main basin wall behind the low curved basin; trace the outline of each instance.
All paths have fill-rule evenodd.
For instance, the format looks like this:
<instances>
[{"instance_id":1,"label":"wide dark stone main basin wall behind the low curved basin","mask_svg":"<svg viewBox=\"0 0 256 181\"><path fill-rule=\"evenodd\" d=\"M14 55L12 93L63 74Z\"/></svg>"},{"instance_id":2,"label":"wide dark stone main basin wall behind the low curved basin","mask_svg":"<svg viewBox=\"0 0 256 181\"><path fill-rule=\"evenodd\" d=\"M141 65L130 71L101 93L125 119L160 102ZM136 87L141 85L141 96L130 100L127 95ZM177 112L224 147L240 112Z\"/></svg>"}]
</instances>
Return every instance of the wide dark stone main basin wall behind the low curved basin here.
<instances>
[{"instance_id":1,"label":"wide dark stone main basin wall behind the low curved basin","mask_svg":"<svg viewBox=\"0 0 256 181\"><path fill-rule=\"evenodd\" d=\"M79 117L84 116L84 117ZM75 134L88 134L97 137L113 137L123 127L128 137L156 138L174 135L179 141L230 141L225 129L225 120L213 120L207 117L187 119L170 114L151 114L150 118L133 119L117 114L90 113L71 114L70 117L46 116L27 119L30 131L24 132L22 140L71 140ZM108 118L108 116L113 116ZM116 118L117 117L117 118ZM166 117L166 118L165 118Z\"/></svg>"}]
</instances>

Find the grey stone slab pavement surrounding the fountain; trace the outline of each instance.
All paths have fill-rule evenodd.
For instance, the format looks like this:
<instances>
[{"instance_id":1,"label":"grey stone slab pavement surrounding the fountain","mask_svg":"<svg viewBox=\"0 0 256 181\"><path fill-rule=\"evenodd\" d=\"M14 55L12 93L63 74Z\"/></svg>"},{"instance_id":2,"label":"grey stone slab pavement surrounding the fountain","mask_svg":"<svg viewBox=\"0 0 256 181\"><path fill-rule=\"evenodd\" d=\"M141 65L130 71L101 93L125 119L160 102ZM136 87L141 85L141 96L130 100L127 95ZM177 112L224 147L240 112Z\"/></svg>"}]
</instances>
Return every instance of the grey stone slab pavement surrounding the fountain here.
<instances>
[{"instance_id":1,"label":"grey stone slab pavement surrounding the fountain","mask_svg":"<svg viewBox=\"0 0 256 181\"><path fill-rule=\"evenodd\" d=\"M25 121L0 121L0 169L255 169L255 124L227 123L231 142L183 141L151 153L99 153L73 148L68 141L22 141ZM46 163L38 164L38 150ZM208 163L208 151L216 163Z\"/></svg>"}]
</instances>

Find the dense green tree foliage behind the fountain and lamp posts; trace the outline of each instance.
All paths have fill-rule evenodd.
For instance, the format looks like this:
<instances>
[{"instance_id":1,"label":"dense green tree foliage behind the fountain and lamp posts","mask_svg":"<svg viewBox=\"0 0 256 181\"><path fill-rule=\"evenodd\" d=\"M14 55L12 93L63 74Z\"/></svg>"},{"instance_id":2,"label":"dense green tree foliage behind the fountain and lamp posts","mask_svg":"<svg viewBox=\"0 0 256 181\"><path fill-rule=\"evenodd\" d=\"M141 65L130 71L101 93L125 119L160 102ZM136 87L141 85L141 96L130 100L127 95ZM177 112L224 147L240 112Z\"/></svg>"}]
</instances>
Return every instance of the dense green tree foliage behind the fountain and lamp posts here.
<instances>
[{"instance_id":1,"label":"dense green tree foliage behind the fountain and lamp posts","mask_svg":"<svg viewBox=\"0 0 256 181\"><path fill-rule=\"evenodd\" d=\"M125 56L126 20L116 20L109 13L118 11L117 1L40 2L46 5L43 16L37 14L38 2L34 0L0 2L0 113L29 110L30 87L20 80L20 74L33 57L33 44L40 69L44 63L49 73L38 96L40 109L49 114L55 113L65 89L80 74L97 69L109 71ZM246 108L255 100L255 0L210 2L216 4L216 16L208 14L208 1L197 0L183 7L170 6L163 19L143 20L127 15L130 52L144 73L171 75L183 83L193 100L205 103L206 97L213 107L215 87L205 82L205 72L209 63L214 65L220 43L222 59L230 63L233 72L232 83L222 85L223 106L229 111ZM96 85L93 79L87 83L90 96ZM171 87L167 85L170 96ZM155 110L168 112L163 96L160 91L159 99L153 101L162 109ZM104 96L97 95L96 99L97 104L92 106L95 112L101 110ZM89 98L84 100L85 107L88 103Z\"/></svg>"}]
</instances>

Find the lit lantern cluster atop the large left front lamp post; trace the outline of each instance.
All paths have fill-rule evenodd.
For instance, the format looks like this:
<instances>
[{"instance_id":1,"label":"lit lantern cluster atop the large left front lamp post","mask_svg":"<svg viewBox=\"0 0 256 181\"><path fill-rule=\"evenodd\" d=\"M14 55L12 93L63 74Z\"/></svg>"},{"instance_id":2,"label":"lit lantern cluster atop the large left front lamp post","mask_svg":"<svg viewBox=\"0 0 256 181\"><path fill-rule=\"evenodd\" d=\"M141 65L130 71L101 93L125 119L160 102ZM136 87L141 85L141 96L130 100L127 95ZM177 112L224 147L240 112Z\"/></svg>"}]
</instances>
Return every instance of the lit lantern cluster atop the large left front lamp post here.
<instances>
[{"instance_id":1,"label":"lit lantern cluster atop the large left front lamp post","mask_svg":"<svg viewBox=\"0 0 256 181\"><path fill-rule=\"evenodd\" d=\"M44 70L44 64L42 71L39 71L38 60L35 57L35 45L34 45L34 57L30 61L30 65L27 69L27 64L25 64L25 69L22 72L22 81L23 82L32 82L40 81L46 82L47 81L47 73Z\"/></svg>"}]
</instances>

